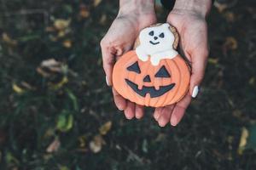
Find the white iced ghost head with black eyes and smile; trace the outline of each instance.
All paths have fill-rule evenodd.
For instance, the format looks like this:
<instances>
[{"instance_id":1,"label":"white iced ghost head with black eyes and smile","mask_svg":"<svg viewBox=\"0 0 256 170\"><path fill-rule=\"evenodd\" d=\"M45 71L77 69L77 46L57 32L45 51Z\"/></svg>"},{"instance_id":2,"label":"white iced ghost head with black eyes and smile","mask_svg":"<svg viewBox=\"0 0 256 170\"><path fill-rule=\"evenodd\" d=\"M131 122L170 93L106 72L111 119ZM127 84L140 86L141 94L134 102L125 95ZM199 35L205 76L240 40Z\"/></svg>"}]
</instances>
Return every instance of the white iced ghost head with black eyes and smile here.
<instances>
[{"instance_id":1,"label":"white iced ghost head with black eyes and smile","mask_svg":"<svg viewBox=\"0 0 256 170\"><path fill-rule=\"evenodd\" d=\"M139 35L140 45L146 49L148 54L171 50L175 37L169 29L168 24L148 27Z\"/></svg>"}]
</instances>

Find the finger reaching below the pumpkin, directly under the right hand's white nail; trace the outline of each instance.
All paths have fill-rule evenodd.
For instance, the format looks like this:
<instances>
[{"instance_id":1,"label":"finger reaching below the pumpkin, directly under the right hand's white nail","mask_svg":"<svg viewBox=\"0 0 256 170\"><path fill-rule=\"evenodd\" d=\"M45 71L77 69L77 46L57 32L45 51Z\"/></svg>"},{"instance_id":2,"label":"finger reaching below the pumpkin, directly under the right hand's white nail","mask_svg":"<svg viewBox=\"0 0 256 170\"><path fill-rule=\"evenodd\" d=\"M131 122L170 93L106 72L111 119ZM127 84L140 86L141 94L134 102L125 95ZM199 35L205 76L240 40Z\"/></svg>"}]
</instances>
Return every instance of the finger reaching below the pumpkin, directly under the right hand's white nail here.
<instances>
[{"instance_id":1,"label":"finger reaching below the pumpkin, directly under the right hand's white nail","mask_svg":"<svg viewBox=\"0 0 256 170\"><path fill-rule=\"evenodd\" d=\"M172 126L176 126L177 123L181 121L186 109L190 104L190 101L191 101L191 96L187 94L182 100L177 102L177 104L173 108L172 116L170 120Z\"/></svg>"}]
</instances>

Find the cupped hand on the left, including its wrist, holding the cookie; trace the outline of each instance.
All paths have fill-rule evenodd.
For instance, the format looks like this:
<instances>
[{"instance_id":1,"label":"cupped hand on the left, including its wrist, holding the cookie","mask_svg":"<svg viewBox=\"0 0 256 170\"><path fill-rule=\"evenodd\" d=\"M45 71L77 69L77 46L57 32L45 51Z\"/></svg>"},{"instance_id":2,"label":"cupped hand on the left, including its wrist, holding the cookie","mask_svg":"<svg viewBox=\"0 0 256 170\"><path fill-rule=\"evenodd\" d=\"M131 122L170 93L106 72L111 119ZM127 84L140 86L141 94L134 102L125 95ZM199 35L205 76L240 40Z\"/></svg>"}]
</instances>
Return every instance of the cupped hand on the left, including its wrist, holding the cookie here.
<instances>
[{"instance_id":1,"label":"cupped hand on the left, including its wrist, holding the cookie","mask_svg":"<svg viewBox=\"0 0 256 170\"><path fill-rule=\"evenodd\" d=\"M127 0L120 1L120 5L122 7L117 18L113 20L112 26L101 42L103 68L108 86L112 85L114 62L122 54L131 50L140 30L156 22L153 1ZM143 117L142 105L126 100L114 88L112 90L115 105L120 111L125 111L127 119L134 116Z\"/></svg>"}]
</instances>

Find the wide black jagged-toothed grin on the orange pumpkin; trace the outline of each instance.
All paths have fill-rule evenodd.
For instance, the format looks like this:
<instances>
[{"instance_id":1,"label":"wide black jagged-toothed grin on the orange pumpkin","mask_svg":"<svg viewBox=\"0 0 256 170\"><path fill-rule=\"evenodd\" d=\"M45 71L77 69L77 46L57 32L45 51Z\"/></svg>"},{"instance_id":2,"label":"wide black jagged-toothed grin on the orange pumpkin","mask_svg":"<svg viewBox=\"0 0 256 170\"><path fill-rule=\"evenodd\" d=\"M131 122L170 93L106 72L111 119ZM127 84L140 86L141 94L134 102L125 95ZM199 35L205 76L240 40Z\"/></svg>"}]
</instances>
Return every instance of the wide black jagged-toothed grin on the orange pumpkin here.
<instances>
[{"instance_id":1,"label":"wide black jagged-toothed grin on the orange pumpkin","mask_svg":"<svg viewBox=\"0 0 256 170\"><path fill-rule=\"evenodd\" d=\"M158 90L156 90L154 87L143 86L143 88L140 90L138 89L136 83L131 82L128 79L125 79L125 82L140 96L146 97L146 94L150 94L151 98L157 98L163 94L166 94L166 92L170 91L175 86L175 83L172 83L167 86L160 86Z\"/></svg>"}]
</instances>

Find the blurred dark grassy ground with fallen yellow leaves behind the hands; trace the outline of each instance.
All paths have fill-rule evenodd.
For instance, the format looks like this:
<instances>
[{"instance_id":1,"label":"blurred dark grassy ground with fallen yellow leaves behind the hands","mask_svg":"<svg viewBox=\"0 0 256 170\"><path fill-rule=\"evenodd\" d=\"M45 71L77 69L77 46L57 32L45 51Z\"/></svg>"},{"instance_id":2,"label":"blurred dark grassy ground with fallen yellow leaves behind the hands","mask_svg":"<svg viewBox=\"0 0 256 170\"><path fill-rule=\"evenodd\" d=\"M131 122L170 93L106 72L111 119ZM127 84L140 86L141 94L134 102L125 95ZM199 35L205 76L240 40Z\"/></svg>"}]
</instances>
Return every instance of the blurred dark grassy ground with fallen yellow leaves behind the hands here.
<instances>
[{"instance_id":1,"label":"blurred dark grassy ground with fallen yellow leaves behind the hands","mask_svg":"<svg viewBox=\"0 0 256 170\"><path fill-rule=\"evenodd\" d=\"M177 127L113 105L99 42L117 0L1 0L0 11L1 170L256 168L255 1L214 3L201 94Z\"/></svg>"}]
</instances>

